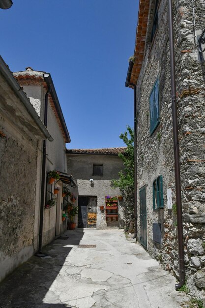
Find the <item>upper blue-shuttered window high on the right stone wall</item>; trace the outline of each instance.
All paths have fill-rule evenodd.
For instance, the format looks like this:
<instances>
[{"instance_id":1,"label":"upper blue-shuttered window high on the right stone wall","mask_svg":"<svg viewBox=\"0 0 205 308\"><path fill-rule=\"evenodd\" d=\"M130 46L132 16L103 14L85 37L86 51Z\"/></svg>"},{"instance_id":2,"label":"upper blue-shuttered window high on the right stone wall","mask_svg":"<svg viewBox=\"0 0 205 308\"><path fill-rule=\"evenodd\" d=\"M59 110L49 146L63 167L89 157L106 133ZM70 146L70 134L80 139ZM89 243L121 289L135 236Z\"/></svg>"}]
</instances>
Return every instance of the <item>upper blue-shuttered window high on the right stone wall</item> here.
<instances>
[{"instance_id":1,"label":"upper blue-shuttered window high on the right stone wall","mask_svg":"<svg viewBox=\"0 0 205 308\"><path fill-rule=\"evenodd\" d=\"M150 134L154 132L159 124L159 80L154 84L154 87L149 96L149 112L150 112Z\"/></svg>"}]
</instances>

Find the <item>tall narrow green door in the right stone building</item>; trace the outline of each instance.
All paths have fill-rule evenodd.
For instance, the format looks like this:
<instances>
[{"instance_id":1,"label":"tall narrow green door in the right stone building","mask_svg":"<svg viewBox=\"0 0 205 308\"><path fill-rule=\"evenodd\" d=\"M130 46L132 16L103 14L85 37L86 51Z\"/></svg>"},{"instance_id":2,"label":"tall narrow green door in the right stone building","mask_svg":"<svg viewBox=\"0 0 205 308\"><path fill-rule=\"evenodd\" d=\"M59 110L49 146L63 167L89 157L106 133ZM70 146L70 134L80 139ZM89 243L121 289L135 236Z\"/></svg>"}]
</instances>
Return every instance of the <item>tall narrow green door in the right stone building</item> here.
<instances>
[{"instance_id":1,"label":"tall narrow green door in the right stone building","mask_svg":"<svg viewBox=\"0 0 205 308\"><path fill-rule=\"evenodd\" d=\"M140 242L146 249L146 186L140 188Z\"/></svg>"}]
</instances>

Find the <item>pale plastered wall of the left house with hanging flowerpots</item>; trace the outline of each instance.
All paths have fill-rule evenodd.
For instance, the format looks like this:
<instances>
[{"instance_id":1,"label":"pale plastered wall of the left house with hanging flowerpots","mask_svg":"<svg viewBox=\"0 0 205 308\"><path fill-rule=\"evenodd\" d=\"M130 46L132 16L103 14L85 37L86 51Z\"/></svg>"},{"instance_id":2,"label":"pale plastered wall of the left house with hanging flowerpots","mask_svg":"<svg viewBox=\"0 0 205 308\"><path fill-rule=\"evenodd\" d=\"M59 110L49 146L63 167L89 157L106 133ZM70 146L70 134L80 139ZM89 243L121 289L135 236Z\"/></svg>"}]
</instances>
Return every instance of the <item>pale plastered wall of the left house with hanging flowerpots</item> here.
<instances>
[{"instance_id":1,"label":"pale plastered wall of the left house with hanging flowerpots","mask_svg":"<svg viewBox=\"0 0 205 308\"><path fill-rule=\"evenodd\" d=\"M33 76L43 76L42 72L32 71L29 73ZM18 75L18 73L15 73ZM21 85L24 87L24 91L27 93L27 96L30 99L31 104L35 108L36 112L40 116L41 120L44 120L44 103L45 103L45 94L46 89L43 84L43 79L38 83L32 84L32 79L20 80ZM50 142L47 140L46 147L46 172L51 170L58 170L60 172L67 172L66 164L66 155L65 155L65 142L62 135L62 132L59 127L59 123L54 114L54 110L51 106L50 97L48 99L48 115L47 115L47 129L53 137L54 141ZM38 151L38 164L41 167L41 155L42 155L42 145ZM40 175L41 177L41 175ZM39 180L40 181L40 180ZM59 183L58 183L59 184ZM43 223L43 246L50 243L55 235L59 235L62 230L65 229L65 223L62 223L62 210L61 203L63 198L61 196L62 192L62 183L59 185L60 192L57 197L57 205L51 209L44 210L44 223ZM53 191L54 185L47 185L45 181L45 194L48 191ZM35 209L35 249L37 249L38 243L38 233L39 233L39 219L40 219L40 187L39 191L36 194L36 200L38 204ZM56 209L57 207L57 209Z\"/></svg>"}]
</instances>

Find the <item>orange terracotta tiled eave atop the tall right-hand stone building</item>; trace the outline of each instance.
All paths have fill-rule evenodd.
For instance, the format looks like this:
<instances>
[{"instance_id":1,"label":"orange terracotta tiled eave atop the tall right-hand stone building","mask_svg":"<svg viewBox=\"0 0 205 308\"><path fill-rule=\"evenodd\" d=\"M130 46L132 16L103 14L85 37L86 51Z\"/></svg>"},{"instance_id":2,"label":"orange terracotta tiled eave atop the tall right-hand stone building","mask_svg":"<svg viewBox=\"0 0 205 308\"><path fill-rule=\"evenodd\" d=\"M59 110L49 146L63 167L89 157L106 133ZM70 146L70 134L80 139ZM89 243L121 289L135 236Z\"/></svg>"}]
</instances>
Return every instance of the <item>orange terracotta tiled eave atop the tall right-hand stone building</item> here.
<instances>
[{"instance_id":1,"label":"orange terracotta tiled eave atop the tall right-hand stone building","mask_svg":"<svg viewBox=\"0 0 205 308\"><path fill-rule=\"evenodd\" d=\"M134 50L135 62L130 77L130 83L135 85L137 84L144 58L149 2L150 0L140 0L139 2L138 25ZM130 85L129 87L131 88L132 86Z\"/></svg>"}]
</instances>

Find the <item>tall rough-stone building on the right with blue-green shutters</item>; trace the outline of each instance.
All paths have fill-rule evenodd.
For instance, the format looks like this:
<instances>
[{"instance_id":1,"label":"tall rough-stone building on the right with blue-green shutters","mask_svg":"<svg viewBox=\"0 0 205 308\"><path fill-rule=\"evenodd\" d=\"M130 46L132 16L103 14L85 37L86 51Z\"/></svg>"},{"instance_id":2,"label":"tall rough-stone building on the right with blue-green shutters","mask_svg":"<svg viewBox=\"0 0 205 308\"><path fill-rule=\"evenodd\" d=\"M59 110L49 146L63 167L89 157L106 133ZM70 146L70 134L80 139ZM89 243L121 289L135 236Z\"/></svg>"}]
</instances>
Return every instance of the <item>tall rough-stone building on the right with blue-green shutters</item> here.
<instances>
[{"instance_id":1,"label":"tall rough-stone building on the right with blue-green shutters","mask_svg":"<svg viewBox=\"0 0 205 308\"><path fill-rule=\"evenodd\" d=\"M139 2L129 79L136 89L138 240L178 277L168 1ZM205 299L205 66L197 48L205 2L172 2L185 272L192 295Z\"/></svg>"}]
</instances>

